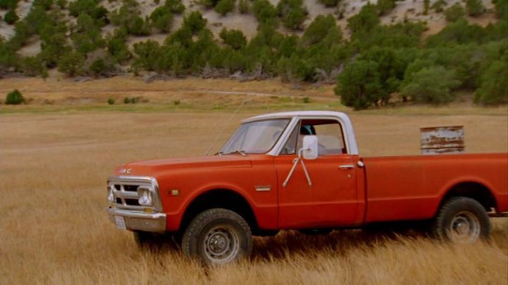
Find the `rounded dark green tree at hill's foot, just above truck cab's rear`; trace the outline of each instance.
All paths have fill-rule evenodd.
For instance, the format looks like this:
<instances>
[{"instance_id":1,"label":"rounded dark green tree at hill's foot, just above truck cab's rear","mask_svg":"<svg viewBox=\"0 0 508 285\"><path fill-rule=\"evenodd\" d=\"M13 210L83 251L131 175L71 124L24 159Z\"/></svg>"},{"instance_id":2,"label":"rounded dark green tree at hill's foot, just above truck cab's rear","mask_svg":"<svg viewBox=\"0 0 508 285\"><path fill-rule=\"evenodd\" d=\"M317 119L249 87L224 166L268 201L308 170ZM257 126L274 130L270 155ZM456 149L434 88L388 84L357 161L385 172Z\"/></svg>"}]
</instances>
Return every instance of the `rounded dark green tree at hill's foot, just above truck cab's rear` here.
<instances>
[{"instance_id":1,"label":"rounded dark green tree at hill's foot, just above truck cab's rear","mask_svg":"<svg viewBox=\"0 0 508 285\"><path fill-rule=\"evenodd\" d=\"M344 68L337 77L335 94L341 96L341 102L354 110L373 106L382 95L379 67L373 61L354 61Z\"/></svg>"}]
</instances>

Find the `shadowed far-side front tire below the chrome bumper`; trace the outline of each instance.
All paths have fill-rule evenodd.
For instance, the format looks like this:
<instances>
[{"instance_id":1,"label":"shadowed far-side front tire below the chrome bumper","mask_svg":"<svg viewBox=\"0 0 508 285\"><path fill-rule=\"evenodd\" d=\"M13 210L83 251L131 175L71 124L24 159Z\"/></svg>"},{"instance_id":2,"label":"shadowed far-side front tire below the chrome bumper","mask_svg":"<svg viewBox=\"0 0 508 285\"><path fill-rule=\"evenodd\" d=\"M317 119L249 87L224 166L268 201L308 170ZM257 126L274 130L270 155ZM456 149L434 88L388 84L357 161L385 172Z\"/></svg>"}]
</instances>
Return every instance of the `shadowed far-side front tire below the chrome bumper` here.
<instances>
[{"instance_id":1,"label":"shadowed far-side front tire below the chrome bumper","mask_svg":"<svg viewBox=\"0 0 508 285\"><path fill-rule=\"evenodd\" d=\"M171 234L135 231L133 232L133 236L136 245L142 250L158 251L163 248L176 249L179 248L181 244L179 236Z\"/></svg>"}]
</instances>

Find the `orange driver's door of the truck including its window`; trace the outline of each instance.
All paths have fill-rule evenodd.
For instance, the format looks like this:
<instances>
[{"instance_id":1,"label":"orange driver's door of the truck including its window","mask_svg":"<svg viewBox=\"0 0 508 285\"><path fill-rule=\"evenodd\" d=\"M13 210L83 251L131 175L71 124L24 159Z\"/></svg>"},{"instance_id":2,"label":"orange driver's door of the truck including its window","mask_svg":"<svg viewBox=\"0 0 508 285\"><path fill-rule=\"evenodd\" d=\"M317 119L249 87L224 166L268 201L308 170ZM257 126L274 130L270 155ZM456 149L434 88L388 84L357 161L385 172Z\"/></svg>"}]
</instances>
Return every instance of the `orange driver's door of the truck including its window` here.
<instances>
[{"instance_id":1,"label":"orange driver's door of the truck including its window","mask_svg":"<svg viewBox=\"0 0 508 285\"><path fill-rule=\"evenodd\" d=\"M282 152L274 159L279 189L279 227L335 227L359 222L356 163L347 153L341 123L334 119L306 119L296 125ZM305 135L316 135L319 156L303 160L288 179ZM302 158L303 159L303 158ZM284 182L287 180L287 184ZM363 203L363 198L361 198Z\"/></svg>"}]
</instances>

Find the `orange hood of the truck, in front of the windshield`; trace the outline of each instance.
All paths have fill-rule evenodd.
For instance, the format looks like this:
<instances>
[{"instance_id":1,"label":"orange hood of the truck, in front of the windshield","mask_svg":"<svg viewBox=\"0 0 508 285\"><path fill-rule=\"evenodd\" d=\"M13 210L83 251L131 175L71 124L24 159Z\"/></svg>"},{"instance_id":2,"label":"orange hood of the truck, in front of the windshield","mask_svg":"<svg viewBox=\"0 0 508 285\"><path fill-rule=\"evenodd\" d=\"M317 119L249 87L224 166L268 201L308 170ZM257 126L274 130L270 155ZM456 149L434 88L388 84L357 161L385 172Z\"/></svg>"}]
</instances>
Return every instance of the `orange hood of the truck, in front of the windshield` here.
<instances>
[{"instance_id":1,"label":"orange hood of the truck, in front of the windshield","mask_svg":"<svg viewBox=\"0 0 508 285\"><path fill-rule=\"evenodd\" d=\"M115 175L156 176L167 170L184 170L187 168L213 167L236 168L251 167L254 156L226 155L203 156L195 158L169 158L157 160L140 160L116 167Z\"/></svg>"}]
</instances>

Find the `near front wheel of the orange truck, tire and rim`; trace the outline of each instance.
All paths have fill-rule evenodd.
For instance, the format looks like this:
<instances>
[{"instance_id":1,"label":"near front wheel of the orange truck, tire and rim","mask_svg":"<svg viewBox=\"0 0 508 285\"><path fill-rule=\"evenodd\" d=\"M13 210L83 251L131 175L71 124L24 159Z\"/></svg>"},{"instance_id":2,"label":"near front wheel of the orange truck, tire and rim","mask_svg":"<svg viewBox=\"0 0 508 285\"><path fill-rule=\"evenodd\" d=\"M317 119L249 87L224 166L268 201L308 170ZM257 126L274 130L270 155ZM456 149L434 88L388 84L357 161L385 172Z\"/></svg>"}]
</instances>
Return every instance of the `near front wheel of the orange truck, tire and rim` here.
<instances>
[{"instance_id":1,"label":"near front wheel of the orange truck, tire and rim","mask_svg":"<svg viewBox=\"0 0 508 285\"><path fill-rule=\"evenodd\" d=\"M197 215L183 233L182 251L205 265L222 265L250 256L250 227L231 210L214 208Z\"/></svg>"}]
</instances>

